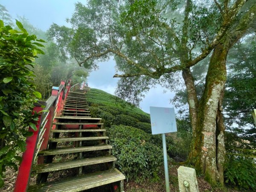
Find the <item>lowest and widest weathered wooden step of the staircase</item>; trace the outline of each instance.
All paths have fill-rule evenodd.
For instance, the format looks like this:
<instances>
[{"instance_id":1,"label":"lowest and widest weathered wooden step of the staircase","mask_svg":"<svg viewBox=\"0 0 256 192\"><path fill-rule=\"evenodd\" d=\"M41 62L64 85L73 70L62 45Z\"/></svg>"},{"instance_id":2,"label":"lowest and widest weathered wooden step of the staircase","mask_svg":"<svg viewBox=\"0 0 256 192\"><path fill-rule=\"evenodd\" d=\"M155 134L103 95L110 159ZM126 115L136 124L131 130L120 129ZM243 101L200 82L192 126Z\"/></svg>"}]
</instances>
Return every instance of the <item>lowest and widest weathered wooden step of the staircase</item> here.
<instances>
[{"instance_id":1,"label":"lowest and widest weathered wooden step of the staircase","mask_svg":"<svg viewBox=\"0 0 256 192\"><path fill-rule=\"evenodd\" d=\"M29 186L28 192L78 192L124 179L125 176L121 172L111 169L57 182Z\"/></svg>"}]
</instances>

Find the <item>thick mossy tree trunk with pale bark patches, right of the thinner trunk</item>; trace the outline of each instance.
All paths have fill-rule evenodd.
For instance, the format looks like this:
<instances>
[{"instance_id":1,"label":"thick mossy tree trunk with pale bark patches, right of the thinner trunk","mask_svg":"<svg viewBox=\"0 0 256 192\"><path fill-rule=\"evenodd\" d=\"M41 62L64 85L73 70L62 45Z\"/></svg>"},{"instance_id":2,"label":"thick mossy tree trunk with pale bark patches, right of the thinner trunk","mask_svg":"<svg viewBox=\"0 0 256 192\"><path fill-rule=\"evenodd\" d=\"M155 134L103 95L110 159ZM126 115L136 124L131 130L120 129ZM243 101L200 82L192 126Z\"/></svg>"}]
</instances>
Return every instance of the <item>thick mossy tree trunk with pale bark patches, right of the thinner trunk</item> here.
<instances>
[{"instance_id":1,"label":"thick mossy tree trunk with pale bark patches, right of the thinner trunk","mask_svg":"<svg viewBox=\"0 0 256 192\"><path fill-rule=\"evenodd\" d=\"M198 107L193 157L199 157L196 159L196 167L201 169L210 183L224 183L225 128L221 103L227 79L227 52L228 49L222 44L215 47L209 63L206 87Z\"/></svg>"}]
</instances>

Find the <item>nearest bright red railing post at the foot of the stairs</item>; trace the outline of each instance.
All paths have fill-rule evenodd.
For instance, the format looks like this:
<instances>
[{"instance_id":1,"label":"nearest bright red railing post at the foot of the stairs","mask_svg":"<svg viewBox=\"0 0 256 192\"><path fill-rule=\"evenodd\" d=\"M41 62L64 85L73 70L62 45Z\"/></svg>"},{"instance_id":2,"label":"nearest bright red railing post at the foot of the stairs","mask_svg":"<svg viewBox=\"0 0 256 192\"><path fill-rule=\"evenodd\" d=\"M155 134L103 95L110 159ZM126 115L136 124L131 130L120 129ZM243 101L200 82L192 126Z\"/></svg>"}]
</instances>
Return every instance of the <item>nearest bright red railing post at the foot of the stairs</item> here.
<instances>
[{"instance_id":1,"label":"nearest bright red railing post at the foot of the stairs","mask_svg":"<svg viewBox=\"0 0 256 192\"><path fill-rule=\"evenodd\" d=\"M36 113L42 111L43 108L41 107L41 105L45 105L45 102L36 103L33 111L35 111ZM22 162L19 167L14 192L26 192L29 185L31 169L34 163L34 156L38 142L38 135L41 127L41 118L42 115L39 115L36 125L36 131L29 127L29 132L32 132L33 135L26 138L26 151L22 155Z\"/></svg>"}]
</instances>

